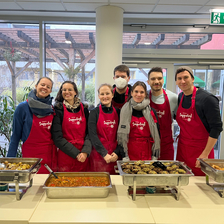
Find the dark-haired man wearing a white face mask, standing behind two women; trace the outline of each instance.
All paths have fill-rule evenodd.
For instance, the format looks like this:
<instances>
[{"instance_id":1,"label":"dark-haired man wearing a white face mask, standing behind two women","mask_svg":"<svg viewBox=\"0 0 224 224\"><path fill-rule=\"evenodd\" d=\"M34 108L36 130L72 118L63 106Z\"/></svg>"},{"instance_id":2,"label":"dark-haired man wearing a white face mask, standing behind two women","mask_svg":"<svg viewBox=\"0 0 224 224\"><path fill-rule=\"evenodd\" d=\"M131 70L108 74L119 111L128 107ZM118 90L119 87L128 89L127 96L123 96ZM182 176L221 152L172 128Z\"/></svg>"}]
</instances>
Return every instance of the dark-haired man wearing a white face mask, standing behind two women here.
<instances>
[{"instance_id":1,"label":"dark-haired man wearing a white face mask, standing behind two women","mask_svg":"<svg viewBox=\"0 0 224 224\"><path fill-rule=\"evenodd\" d=\"M128 96L131 94L130 70L126 65L118 65L114 69L114 82L112 105L118 109L127 102Z\"/></svg>"}]
</instances>

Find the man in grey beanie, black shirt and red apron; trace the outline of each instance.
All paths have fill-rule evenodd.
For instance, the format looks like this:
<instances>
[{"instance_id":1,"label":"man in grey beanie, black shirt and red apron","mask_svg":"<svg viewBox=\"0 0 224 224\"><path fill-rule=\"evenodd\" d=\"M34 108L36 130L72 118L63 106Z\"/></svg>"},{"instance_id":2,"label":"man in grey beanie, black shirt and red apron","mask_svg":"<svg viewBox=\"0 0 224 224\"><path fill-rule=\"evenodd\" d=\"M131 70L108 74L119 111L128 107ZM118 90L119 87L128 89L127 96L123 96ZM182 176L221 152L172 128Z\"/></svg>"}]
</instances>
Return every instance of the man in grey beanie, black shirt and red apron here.
<instances>
[{"instance_id":1,"label":"man in grey beanie, black shirt and red apron","mask_svg":"<svg viewBox=\"0 0 224 224\"><path fill-rule=\"evenodd\" d=\"M177 160L185 162L195 176L202 176L197 158L214 159L214 145L222 132L219 100L194 85L194 73L188 66L177 69L175 81L182 90L176 113L180 127Z\"/></svg>"}]
</instances>

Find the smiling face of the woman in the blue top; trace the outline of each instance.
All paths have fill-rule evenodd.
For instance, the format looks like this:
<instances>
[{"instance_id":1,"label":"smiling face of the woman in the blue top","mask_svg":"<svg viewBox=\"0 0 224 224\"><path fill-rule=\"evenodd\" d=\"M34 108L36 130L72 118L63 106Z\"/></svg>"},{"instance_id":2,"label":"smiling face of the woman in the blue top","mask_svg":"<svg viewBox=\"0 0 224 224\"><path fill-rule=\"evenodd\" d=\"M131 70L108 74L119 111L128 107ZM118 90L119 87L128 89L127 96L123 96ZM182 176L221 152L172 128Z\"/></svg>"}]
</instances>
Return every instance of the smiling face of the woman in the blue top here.
<instances>
[{"instance_id":1,"label":"smiling face of the woman in the blue top","mask_svg":"<svg viewBox=\"0 0 224 224\"><path fill-rule=\"evenodd\" d=\"M52 82L47 78L42 78L35 88L37 97L46 98L52 91Z\"/></svg>"}]
</instances>

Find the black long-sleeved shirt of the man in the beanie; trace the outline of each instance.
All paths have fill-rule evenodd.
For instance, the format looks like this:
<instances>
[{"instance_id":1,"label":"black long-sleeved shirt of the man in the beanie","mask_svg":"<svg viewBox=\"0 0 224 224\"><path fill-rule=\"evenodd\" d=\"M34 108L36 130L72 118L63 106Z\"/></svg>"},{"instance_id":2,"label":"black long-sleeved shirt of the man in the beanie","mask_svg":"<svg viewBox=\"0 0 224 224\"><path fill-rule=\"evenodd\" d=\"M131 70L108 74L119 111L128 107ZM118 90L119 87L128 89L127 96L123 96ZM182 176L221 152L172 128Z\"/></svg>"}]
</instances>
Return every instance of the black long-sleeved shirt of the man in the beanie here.
<instances>
[{"instance_id":1,"label":"black long-sleeved shirt of the man in the beanie","mask_svg":"<svg viewBox=\"0 0 224 224\"><path fill-rule=\"evenodd\" d=\"M178 96L178 105L182 98L183 92ZM191 107L192 94L183 97L182 107L188 109ZM219 100L216 96L211 93L198 88L195 97L195 108L196 112L201 119L203 125L212 138L218 138L222 132L222 121L219 109Z\"/></svg>"}]
</instances>

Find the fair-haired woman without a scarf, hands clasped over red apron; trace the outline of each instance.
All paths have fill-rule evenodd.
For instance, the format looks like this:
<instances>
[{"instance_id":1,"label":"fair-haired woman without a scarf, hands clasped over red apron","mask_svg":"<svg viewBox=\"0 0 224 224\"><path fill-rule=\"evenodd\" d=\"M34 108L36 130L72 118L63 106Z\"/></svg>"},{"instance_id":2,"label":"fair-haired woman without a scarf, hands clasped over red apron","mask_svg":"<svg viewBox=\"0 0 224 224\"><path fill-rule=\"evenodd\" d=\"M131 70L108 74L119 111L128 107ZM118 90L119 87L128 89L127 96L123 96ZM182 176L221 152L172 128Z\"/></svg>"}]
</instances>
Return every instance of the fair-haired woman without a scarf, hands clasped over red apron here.
<instances>
[{"instance_id":1,"label":"fair-haired woman without a scarf, hands clasped over red apron","mask_svg":"<svg viewBox=\"0 0 224 224\"><path fill-rule=\"evenodd\" d=\"M111 105L112 87L102 84L98 90L101 104L90 111L89 136L93 145L90 167L94 172L116 174L114 166L120 155L117 145L118 112Z\"/></svg>"}]
</instances>

